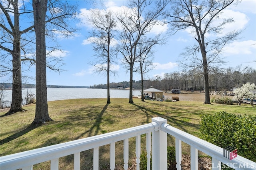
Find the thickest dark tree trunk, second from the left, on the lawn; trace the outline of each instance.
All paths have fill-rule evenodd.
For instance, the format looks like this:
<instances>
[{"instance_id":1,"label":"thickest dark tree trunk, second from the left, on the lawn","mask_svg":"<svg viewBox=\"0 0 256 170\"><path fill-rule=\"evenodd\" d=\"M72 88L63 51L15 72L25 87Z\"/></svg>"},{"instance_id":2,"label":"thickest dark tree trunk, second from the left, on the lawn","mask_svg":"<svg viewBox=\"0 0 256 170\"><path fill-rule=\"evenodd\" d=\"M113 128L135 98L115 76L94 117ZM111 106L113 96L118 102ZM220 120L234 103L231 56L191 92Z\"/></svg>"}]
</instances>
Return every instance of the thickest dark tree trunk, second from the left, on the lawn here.
<instances>
[{"instance_id":1,"label":"thickest dark tree trunk, second from the left, on the lawn","mask_svg":"<svg viewBox=\"0 0 256 170\"><path fill-rule=\"evenodd\" d=\"M48 114L46 88L45 18L47 0L33 0L34 28L36 32L36 115L33 125L52 121Z\"/></svg>"}]
</instances>

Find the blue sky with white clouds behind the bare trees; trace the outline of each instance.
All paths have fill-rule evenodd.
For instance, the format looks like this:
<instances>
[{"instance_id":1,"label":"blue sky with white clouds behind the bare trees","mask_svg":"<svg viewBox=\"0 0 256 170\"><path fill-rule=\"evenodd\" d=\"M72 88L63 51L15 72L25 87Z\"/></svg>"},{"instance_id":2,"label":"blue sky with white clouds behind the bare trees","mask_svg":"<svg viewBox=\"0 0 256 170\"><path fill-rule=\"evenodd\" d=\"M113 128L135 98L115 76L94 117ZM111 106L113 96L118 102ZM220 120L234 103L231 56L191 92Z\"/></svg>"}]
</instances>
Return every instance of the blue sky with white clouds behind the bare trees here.
<instances>
[{"instance_id":1,"label":"blue sky with white clouds behind the bare trees","mask_svg":"<svg viewBox=\"0 0 256 170\"><path fill-rule=\"evenodd\" d=\"M64 38L59 36L56 41L61 46L62 52L56 51L56 57L61 57L65 63L61 69L63 72L54 72L47 70L47 85L64 85L64 86L94 86L95 84L106 84L106 74L98 74L94 72L94 67L90 64L95 60L92 44L88 43L89 32L92 31L92 25L86 21L86 15L90 9L96 8L88 1L76 1L78 8L80 23L76 26L80 29L75 33L75 36ZM121 6L125 6L125 1L104 1L105 9L120 10ZM242 0L237 6L230 6L224 11L224 16L232 17L235 22L228 25L224 32L228 32L234 28L245 29L240 35L240 39L227 44L224 47L222 56L227 62L221 65L222 68L247 66L256 69L256 1ZM170 26L154 27L154 32L168 31ZM196 43L194 35L191 30L181 30L176 34L170 36L165 45L157 45L154 47L154 65L145 76L145 79L152 79L155 76L163 76L164 73L179 72L181 66L178 61L181 59L180 54L184 52L184 48ZM48 41L46 41L47 43ZM129 81L129 72L121 64L121 56L119 56L117 63L112 69L117 71L117 75L110 76L110 82ZM35 75L35 66L30 68L28 75ZM2 77L1 82L6 82L8 77ZM134 73L133 80L140 80L140 75ZM8 81L7 81L8 82ZM28 83L35 84L35 81L28 81Z\"/></svg>"}]
</instances>

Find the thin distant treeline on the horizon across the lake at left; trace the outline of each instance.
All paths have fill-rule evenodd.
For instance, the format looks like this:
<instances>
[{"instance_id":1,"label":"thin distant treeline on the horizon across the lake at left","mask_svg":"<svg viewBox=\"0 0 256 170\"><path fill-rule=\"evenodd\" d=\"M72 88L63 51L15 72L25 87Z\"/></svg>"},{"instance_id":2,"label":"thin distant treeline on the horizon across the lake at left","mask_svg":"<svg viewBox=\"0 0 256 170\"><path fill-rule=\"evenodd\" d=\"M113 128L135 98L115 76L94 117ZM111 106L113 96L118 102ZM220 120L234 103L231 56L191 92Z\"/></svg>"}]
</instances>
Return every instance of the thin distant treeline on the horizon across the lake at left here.
<instances>
[{"instance_id":1,"label":"thin distant treeline on the horizon across the lake at left","mask_svg":"<svg viewBox=\"0 0 256 170\"><path fill-rule=\"evenodd\" d=\"M47 85L47 88L89 88L88 86ZM22 88L36 88L36 84L22 84ZM12 89L12 83L1 83L0 89Z\"/></svg>"}]
</instances>

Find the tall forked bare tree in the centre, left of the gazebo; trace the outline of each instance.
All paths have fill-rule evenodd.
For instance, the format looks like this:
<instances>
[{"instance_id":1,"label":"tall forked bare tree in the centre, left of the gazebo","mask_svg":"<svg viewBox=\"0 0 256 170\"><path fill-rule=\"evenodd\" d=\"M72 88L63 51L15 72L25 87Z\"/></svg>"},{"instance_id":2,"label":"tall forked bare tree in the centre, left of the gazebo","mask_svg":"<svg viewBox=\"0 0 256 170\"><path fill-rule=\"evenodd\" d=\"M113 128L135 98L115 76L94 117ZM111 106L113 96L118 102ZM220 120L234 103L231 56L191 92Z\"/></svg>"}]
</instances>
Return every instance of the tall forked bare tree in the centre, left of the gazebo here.
<instances>
[{"instance_id":1,"label":"tall forked bare tree in the centre, left of the gazebo","mask_svg":"<svg viewBox=\"0 0 256 170\"><path fill-rule=\"evenodd\" d=\"M137 55L138 44L145 43L142 41L141 37L143 35L149 34L154 25L161 24L158 19L160 16L162 16L162 13L164 12L167 4L168 1L165 0L131 0L129 9L124 8L124 11L120 12L120 14L117 16L122 25L122 31L120 31L121 43L119 46L119 52L124 57L123 62L126 64L130 72L129 103L133 103L133 69L134 63L138 57L140 57L140 55ZM150 41L156 41L157 37L159 37L159 35L151 37Z\"/></svg>"}]
</instances>

